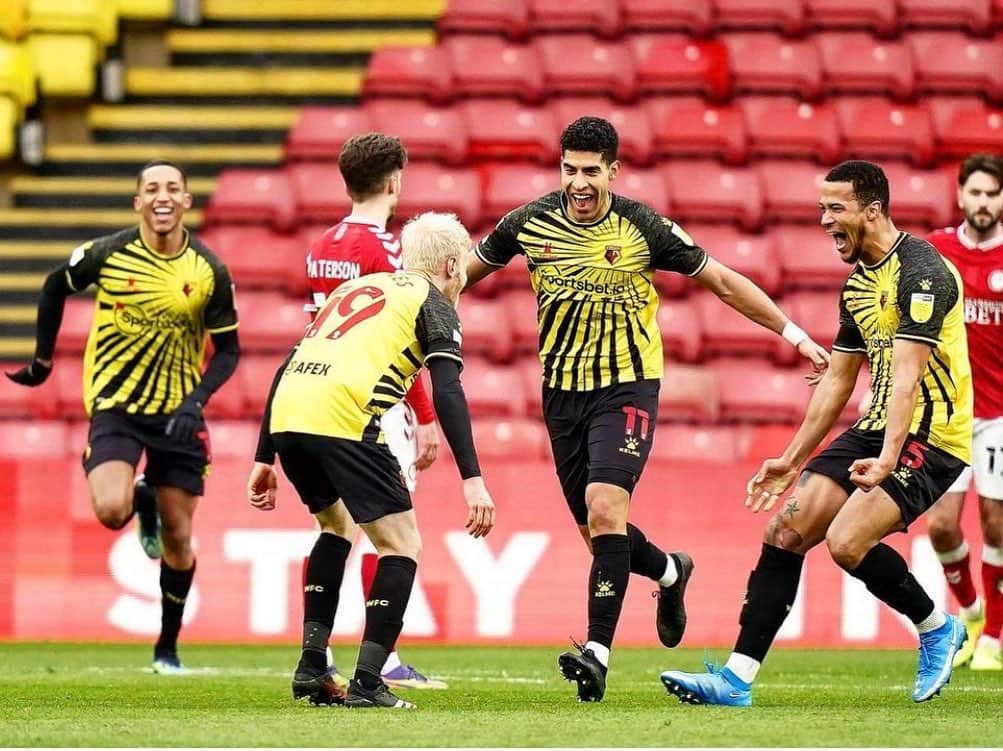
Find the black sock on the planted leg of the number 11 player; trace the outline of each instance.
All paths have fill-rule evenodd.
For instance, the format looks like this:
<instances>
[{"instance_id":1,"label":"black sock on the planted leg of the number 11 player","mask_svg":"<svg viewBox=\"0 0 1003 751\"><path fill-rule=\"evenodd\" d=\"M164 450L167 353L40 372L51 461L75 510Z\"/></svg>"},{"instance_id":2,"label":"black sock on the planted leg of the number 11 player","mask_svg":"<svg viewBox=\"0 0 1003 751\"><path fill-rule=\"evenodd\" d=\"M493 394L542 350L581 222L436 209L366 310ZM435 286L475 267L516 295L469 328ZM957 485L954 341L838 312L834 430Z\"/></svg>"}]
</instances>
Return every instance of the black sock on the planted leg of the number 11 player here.
<instances>
[{"instance_id":1,"label":"black sock on the planted leg of the number 11 player","mask_svg":"<svg viewBox=\"0 0 1003 751\"><path fill-rule=\"evenodd\" d=\"M626 534L599 534L592 538L589 572L590 642L613 645L630 580L630 541Z\"/></svg>"}]
</instances>

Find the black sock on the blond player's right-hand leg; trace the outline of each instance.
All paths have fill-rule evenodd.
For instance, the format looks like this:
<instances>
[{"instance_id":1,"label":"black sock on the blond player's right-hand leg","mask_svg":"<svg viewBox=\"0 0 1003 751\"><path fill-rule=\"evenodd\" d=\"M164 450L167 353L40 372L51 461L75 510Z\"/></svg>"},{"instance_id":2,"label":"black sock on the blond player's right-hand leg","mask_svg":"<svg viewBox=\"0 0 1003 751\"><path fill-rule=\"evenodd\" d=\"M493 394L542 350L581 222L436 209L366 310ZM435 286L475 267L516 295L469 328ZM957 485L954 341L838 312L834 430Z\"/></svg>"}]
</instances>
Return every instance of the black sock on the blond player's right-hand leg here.
<instances>
[{"instance_id":1,"label":"black sock on the blond player's right-hand leg","mask_svg":"<svg viewBox=\"0 0 1003 751\"><path fill-rule=\"evenodd\" d=\"M382 555L376 565L369 598L366 600L366 628L355 665L355 680L366 688L379 682L387 655L393 651L404 627L404 611L414 587L418 565L404 555Z\"/></svg>"}]
</instances>

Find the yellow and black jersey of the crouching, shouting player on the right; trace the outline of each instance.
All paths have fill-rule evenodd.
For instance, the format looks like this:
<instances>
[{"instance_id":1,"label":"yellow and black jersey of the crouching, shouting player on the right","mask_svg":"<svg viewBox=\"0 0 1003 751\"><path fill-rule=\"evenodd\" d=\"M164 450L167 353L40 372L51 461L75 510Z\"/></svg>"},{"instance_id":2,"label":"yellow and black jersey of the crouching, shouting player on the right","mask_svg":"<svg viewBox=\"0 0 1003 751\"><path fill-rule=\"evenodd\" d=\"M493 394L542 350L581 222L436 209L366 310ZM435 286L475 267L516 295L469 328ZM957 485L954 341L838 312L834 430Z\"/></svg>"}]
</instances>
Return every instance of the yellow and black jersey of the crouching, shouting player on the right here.
<instances>
[{"instance_id":1,"label":"yellow and black jersey of the crouching, shouting player on the right","mask_svg":"<svg viewBox=\"0 0 1003 751\"><path fill-rule=\"evenodd\" d=\"M883 430L892 390L892 345L913 339L933 347L910 432L972 462L972 373L958 270L930 243L901 233L874 266L858 264L840 294L840 333L832 349L866 354L871 408L857 422Z\"/></svg>"}]
</instances>

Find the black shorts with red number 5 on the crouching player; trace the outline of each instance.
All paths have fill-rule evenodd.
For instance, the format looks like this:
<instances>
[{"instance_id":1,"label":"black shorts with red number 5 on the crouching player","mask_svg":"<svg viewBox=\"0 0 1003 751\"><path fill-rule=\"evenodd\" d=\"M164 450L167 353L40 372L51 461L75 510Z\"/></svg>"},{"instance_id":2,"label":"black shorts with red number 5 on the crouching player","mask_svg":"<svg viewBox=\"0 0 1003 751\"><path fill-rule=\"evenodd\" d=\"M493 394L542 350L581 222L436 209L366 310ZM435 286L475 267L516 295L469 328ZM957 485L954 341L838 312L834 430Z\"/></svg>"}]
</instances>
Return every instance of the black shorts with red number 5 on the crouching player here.
<instances>
[{"instance_id":1,"label":"black shorts with red number 5 on the crouching player","mask_svg":"<svg viewBox=\"0 0 1003 751\"><path fill-rule=\"evenodd\" d=\"M850 465L857 459L879 456L884 441L884 430L850 428L811 459L804 471L824 474L851 495L859 488L850 479ZM956 456L910 433L898 464L880 486L898 504L908 528L947 492L966 466Z\"/></svg>"}]
</instances>

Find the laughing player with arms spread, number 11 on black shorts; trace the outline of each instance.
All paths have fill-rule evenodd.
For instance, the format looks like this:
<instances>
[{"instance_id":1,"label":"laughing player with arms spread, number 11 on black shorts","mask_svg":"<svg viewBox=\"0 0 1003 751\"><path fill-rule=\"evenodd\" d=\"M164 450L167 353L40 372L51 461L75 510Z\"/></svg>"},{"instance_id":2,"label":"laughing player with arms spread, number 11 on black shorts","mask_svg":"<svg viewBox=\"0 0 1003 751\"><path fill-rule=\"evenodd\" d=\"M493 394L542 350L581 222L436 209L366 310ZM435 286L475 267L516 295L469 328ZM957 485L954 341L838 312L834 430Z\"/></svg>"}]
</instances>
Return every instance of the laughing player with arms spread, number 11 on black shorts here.
<instances>
[{"instance_id":1,"label":"laughing player with arms spread, number 11 on black shorts","mask_svg":"<svg viewBox=\"0 0 1003 751\"><path fill-rule=\"evenodd\" d=\"M631 573L657 582L658 636L675 647L686 626L693 571L627 521L658 418L662 341L656 270L693 277L823 368L828 354L745 277L711 259L675 223L610 192L618 135L582 117L561 135L561 190L507 215L467 259L470 286L527 258L537 293L544 417L565 498L592 551L585 645L560 656L580 701L601 701L610 647Z\"/></svg>"}]
</instances>

